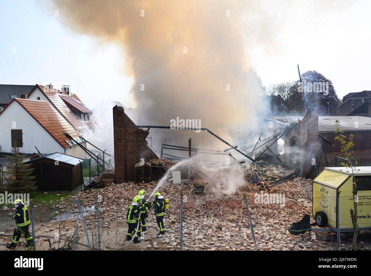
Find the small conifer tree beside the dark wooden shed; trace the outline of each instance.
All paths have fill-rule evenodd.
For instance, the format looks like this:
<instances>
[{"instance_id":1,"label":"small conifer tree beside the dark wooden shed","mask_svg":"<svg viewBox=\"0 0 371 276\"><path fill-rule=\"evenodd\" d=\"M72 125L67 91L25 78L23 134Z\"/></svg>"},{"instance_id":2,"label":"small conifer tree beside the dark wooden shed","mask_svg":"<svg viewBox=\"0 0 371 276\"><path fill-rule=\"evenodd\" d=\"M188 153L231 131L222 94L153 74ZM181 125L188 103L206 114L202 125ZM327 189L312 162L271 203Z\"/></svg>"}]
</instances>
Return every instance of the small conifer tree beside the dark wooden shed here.
<instances>
[{"instance_id":1,"label":"small conifer tree beside the dark wooden shed","mask_svg":"<svg viewBox=\"0 0 371 276\"><path fill-rule=\"evenodd\" d=\"M7 156L9 163L5 167L4 174L9 176L9 187L7 191L10 193L29 193L37 190L35 176L32 175L30 164L24 164L23 160L26 156L19 153L17 142L12 145L12 155Z\"/></svg>"}]
</instances>

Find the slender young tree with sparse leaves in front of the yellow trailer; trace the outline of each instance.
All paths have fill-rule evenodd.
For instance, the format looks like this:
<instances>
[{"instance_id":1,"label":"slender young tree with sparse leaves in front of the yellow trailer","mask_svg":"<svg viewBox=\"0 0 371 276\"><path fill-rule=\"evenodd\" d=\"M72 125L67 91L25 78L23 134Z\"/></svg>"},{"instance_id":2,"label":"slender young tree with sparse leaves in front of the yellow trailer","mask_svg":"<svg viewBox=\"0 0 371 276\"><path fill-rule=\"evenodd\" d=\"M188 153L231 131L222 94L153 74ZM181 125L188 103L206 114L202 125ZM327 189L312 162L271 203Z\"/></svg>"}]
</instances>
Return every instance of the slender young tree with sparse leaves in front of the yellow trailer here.
<instances>
[{"instance_id":1,"label":"slender young tree with sparse leaves in front of the yellow trailer","mask_svg":"<svg viewBox=\"0 0 371 276\"><path fill-rule=\"evenodd\" d=\"M339 121L335 120L334 125L336 126L335 134L339 134L338 136L335 137L335 140L338 140L340 142L341 152L344 154L344 158L346 159L346 161L340 162L340 164L346 167L347 169L350 168L352 170L352 180L353 180L352 193L353 193L354 210L352 209L350 210L350 216L352 218L352 224L353 224L353 229L354 229L352 247L353 249L355 249L355 246L357 244L357 233L358 233L357 201L356 201L358 188L357 188L354 175L355 175L355 172L359 171L359 169L357 169L356 167L353 167L353 164L351 161L351 159L353 158L353 154L354 154L354 151L352 151L352 148L354 146L354 142L353 142L354 135L350 134L349 141L347 142L347 137L344 135L344 132L342 132L341 129L339 128L339 125L340 125ZM354 164L357 164L357 163L358 163L357 160L355 160ZM349 172L349 170L347 170L347 172Z\"/></svg>"}]
</instances>

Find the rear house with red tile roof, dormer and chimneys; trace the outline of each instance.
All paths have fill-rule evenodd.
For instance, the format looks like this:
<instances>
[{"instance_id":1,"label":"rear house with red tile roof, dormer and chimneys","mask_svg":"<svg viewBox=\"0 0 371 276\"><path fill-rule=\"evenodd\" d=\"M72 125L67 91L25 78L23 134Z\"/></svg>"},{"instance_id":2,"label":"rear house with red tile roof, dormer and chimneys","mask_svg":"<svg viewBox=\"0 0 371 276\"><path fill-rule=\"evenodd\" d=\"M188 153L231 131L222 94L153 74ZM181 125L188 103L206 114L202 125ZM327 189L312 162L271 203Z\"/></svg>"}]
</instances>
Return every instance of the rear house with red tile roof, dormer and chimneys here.
<instances>
[{"instance_id":1,"label":"rear house with red tile roof, dormer and chimneys","mask_svg":"<svg viewBox=\"0 0 371 276\"><path fill-rule=\"evenodd\" d=\"M82 137L87 139L95 133L97 120L78 96L70 92L69 86L60 91L54 89L52 84L36 84L28 93L27 99L48 102Z\"/></svg>"}]
</instances>

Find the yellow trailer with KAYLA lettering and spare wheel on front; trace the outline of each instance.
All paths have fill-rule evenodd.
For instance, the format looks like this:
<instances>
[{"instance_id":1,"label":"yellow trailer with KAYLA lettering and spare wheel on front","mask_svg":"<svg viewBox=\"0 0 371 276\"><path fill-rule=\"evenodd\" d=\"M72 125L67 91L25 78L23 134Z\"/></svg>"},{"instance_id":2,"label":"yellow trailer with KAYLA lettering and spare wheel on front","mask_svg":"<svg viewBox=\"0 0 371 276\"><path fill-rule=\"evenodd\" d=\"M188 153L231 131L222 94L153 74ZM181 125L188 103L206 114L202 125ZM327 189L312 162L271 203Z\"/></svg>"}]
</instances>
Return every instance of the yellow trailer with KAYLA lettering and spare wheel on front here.
<instances>
[{"instance_id":1,"label":"yellow trailer with KAYLA lettering and spare wheel on front","mask_svg":"<svg viewBox=\"0 0 371 276\"><path fill-rule=\"evenodd\" d=\"M357 202L358 229L371 230L371 167L355 167L357 197L353 198L352 169L346 167L324 168L313 180L313 218L319 227L336 231L339 200L340 231L353 231L350 210Z\"/></svg>"}]
</instances>

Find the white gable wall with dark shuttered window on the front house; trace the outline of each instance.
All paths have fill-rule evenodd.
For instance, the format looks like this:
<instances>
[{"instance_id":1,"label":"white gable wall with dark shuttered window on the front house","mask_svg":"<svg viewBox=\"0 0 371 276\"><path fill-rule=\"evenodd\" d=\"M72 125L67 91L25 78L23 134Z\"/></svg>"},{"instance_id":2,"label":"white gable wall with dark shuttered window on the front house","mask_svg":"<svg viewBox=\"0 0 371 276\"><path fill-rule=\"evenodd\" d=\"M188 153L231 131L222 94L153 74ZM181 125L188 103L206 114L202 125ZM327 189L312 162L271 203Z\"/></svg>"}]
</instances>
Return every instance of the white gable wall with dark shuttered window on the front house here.
<instances>
[{"instance_id":1,"label":"white gable wall with dark shuttered window on the front house","mask_svg":"<svg viewBox=\"0 0 371 276\"><path fill-rule=\"evenodd\" d=\"M37 152L35 146L42 154L64 153L64 148L16 101L0 115L0 145L3 152L11 152L12 129L22 129L22 153Z\"/></svg>"}]
</instances>

